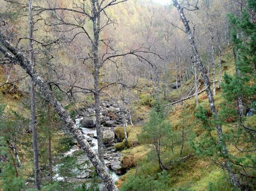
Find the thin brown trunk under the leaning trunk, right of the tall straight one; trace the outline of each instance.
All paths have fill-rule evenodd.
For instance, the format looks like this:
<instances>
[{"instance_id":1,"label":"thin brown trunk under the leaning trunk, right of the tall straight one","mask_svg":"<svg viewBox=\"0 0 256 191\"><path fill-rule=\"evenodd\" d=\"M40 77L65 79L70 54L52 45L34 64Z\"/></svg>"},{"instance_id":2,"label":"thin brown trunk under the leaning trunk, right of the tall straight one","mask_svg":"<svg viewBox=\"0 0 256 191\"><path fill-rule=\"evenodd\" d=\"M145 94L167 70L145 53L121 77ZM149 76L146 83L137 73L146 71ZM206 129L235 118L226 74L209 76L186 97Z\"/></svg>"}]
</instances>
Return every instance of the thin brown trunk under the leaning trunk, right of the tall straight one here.
<instances>
[{"instance_id":1,"label":"thin brown trunk under the leaning trunk, right of the tall straight one","mask_svg":"<svg viewBox=\"0 0 256 191\"><path fill-rule=\"evenodd\" d=\"M49 174L50 181L53 181L53 164L51 155L51 112L50 103L47 104L47 119L48 119L48 159L49 159Z\"/></svg>"}]
</instances>

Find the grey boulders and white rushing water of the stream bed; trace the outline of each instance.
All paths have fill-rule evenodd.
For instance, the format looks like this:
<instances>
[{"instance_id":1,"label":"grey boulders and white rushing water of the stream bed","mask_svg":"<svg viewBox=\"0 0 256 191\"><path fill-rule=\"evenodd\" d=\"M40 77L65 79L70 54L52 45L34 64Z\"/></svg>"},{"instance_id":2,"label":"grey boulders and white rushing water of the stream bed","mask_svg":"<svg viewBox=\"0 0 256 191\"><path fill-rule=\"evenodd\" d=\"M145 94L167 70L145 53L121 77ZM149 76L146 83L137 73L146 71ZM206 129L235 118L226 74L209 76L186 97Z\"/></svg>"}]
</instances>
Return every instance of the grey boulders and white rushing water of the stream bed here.
<instances>
[{"instance_id":1,"label":"grey boulders and white rushing water of the stream bed","mask_svg":"<svg viewBox=\"0 0 256 191\"><path fill-rule=\"evenodd\" d=\"M76 124L82 130L87 142L91 145L92 149L98 153L98 143L96 134L96 118L94 108L83 108L81 111L83 117L76 119ZM80 116L81 116L80 114ZM125 111L127 114L127 111ZM124 174L126 171L122 168L123 155L120 152L116 152L114 149L114 142L121 142L115 134L115 127L123 127L122 125L122 113L118 104L111 103L109 101L101 101L101 128L104 143L104 161L110 171L113 171L111 176L116 181L118 175ZM72 149L65 153L65 156L73 155L75 152L82 152L79 146L75 145ZM78 167L73 169L76 174L74 178L90 178L93 175L93 165L89 161L86 155L78 157Z\"/></svg>"}]
</instances>

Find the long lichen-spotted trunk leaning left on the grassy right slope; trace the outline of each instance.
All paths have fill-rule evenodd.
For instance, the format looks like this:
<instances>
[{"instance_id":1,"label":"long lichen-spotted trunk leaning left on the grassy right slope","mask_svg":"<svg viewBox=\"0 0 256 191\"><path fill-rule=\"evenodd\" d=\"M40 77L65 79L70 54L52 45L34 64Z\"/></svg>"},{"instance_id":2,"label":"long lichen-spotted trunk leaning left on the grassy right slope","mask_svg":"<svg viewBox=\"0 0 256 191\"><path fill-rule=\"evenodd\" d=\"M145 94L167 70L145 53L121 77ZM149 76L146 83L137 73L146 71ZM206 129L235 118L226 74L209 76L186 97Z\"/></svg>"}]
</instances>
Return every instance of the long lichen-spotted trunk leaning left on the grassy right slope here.
<instances>
[{"instance_id":1,"label":"long lichen-spotted trunk leaning left on the grassy right slope","mask_svg":"<svg viewBox=\"0 0 256 191\"><path fill-rule=\"evenodd\" d=\"M205 89L206 89L206 92L207 92L207 95L208 95L208 101L209 101L209 104L210 104L211 112L214 114L215 120L218 120L218 114L217 114L217 110L215 108L214 98L213 98L211 88L210 88L210 81L209 81L209 78L206 74L205 67L203 66L203 63L201 61L200 55L197 51L197 47L196 47L196 44L195 44L195 41L194 41L194 35L191 32L191 29L190 29L189 24L188 24L188 20L186 19L186 16L183 12L183 8L180 7L180 4L177 2L177 0L172 0L172 1L173 1L174 6L177 8L177 10L180 14L180 18L181 18L181 20L184 24L184 27L186 29L186 33L188 35L188 41L190 42L191 47L192 47L192 52L193 52L195 61L197 63L199 71L202 74L203 82L204 82ZM227 147L226 147L225 142L224 142L223 137L222 137L222 127L219 124L217 124L216 125L216 130L217 130L217 136L218 136L218 139L219 139L219 142L220 142L219 144L223 145L222 149L221 149L222 154L227 155L228 150L227 150ZM231 172L230 165L227 162L225 163L225 169L227 169L234 186L239 187L240 182L239 182L236 174Z\"/></svg>"}]
</instances>

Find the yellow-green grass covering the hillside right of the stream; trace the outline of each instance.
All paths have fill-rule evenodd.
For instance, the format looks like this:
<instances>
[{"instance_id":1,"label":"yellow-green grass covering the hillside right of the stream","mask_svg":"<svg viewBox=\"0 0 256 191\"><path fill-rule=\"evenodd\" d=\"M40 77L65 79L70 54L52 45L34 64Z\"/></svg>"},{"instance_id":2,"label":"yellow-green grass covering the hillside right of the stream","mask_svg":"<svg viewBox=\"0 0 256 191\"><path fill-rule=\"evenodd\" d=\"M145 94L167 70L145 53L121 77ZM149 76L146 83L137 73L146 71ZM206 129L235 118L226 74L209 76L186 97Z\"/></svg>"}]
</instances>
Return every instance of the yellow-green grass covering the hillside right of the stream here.
<instances>
[{"instance_id":1,"label":"yellow-green grass covering the hillside right of the stream","mask_svg":"<svg viewBox=\"0 0 256 191\"><path fill-rule=\"evenodd\" d=\"M216 66L217 66L216 62ZM222 75L224 72L228 74L234 74L234 61L231 49L226 50L225 55L222 56ZM210 79L212 79L212 74L210 74ZM218 79L218 68L216 71L216 79ZM184 92L189 92L191 87L193 87L193 80L189 79L185 85L182 85L178 90L173 90L169 95L167 95L170 101L175 101L182 98ZM217 82L218 83L218 82ZM218 84L216 84L217 86ZM200 83L200 90L203 88L202 83ZM150 89L150 88L149 88ZM217 110L220 109L219 103L222 101L220 95L221 90L216 91L217 95L214 96L215 104ZM149 104L152 103L148 95L140 95L141 99L141 108L136 108L136 115L141 115L143 112L149 111ZM207 110L208 115L211 115L211 110L209 108L208 96L206 93L199 95L200 105ZM197 110L195 98L190 98L186 101L183 101L183 104L177 104L169 107L169 116L168 120L171 121L172 128L175 132L179 133L182 126L185 126L189 132L189 129L193 129L197 137L200 137L202 130L199 127L199 124L196 123L194 117L194 112ZM255 115L248 117L248 124L255 126ZM232 124L231 124L232 126ZM228 126L223 126L223 131L228 131ZM192 131L191 131L192 132ZM135 135L139 133L131 131L130 134ZM131 135L130 135L131 136ZM216 132L213 132L213 136L216 136ZM189 140L186 140L183 150L183 156L193 153L193 149L189 145ZM137 166L132 168L123 175L118 181L118 186L121 186L121 183L126 181L129 176L136 175L157 175L160 172L159 165L152 156L150 145L138 145L136 147L131 147L129 149L123 150L124 155L132 155L137 162ZM214 165L209 158L200 158L193 156L188 158L185 162L172 164L171 161L179 157L180 145L174 147L174 154L170 150L164 150L162 154L162 161L164 164L169 166L168 173L171 175L171 187L174 190L196 190L203 191L208 190L209 185L212 184L214 190L225 191L232 190L228 180L226 178L225 172L219 169ZM231 150L231 153L234 150ZM171 190L171 188L170 188Z\"/></svg>"}]
</instances>

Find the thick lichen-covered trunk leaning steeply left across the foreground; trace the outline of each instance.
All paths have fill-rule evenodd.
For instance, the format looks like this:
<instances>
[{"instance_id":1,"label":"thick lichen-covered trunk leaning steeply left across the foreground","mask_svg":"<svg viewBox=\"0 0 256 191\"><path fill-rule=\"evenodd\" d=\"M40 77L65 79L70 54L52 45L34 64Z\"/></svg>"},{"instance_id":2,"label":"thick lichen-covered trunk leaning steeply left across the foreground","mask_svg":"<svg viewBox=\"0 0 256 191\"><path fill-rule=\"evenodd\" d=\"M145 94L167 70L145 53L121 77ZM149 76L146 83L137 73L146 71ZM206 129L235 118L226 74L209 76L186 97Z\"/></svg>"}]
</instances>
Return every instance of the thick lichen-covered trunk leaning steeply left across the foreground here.
<instances>
[{"instance_id":1,"label":"thick lichen-covered trunk leaning steeply left across the foreground","mask_svg":"<svg viewBox=\"0 0 256 191\"><path fill-rule=\"evenodd\" d=\"M3 53L6 57L11 59L13 62L18 63L23 69L25 69L26 73L31 76L34 83L38 86L44 98L53 106L54 110L59 114L63 122L66 124L68 131L74 136L77 142L81 145L82 149L87 154L87 157L92 162L93 166L99 177L104 183L104 186L109 191L118 191L118 188L115 186L115 183L107 172L105 165L102 164L101 160L98 158L94 150L90 147L89 143L85 139L82 132L73 122L69 113L64 109L62 104L57 101L55 95L49 90L48 84L42 80L42 78L37 74L37 71L31 64L28 62L26 57L14 46L12 46L8 42L8 38L0 32L0 41L1 43L10 51L14 56L8 53L3 46L0 46L0 52Z\"/></svg>"}]
</instances>

